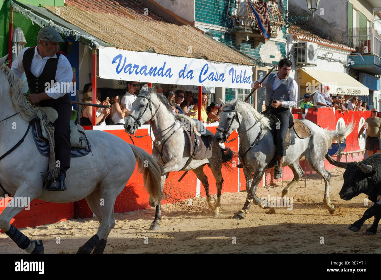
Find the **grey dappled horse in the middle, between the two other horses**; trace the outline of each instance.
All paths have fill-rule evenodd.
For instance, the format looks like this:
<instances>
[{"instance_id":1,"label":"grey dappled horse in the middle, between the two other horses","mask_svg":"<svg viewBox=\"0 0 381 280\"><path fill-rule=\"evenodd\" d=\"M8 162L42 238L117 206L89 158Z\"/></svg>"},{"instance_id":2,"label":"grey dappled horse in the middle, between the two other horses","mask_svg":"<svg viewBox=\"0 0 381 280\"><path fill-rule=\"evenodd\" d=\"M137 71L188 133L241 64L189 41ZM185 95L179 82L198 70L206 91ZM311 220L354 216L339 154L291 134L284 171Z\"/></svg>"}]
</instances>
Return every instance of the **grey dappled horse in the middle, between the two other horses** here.
<instances>
[{"instance_id":1,"label":"grey dappled horse in the middle, between the two other horses","mask_svg":"<svg viewBox=\"0 0 381 280\"><path fill-rule=\"evenodd\" d=\"M124 125L126 133L134 134L137 128L147 121L150 122L155 136L152 155L157 159L162 172L161 190L163 190L165 179L169 172L192 170L202 182L207 194L207 202L211 205L212 197L209 194L208 178L203 171L204 166L207 164L216 179L217 201L214 214L218 216L219 208L221 207L222 183L224 181L221 167L223 163L227 163L232 159L232 154L226 155L223 152L225 149L222 149L219 144L214 141L214 134L208 131L198 120L191 120L197 123L204 133L212 136L213 154L210 158L203 160L192 159L186 166L190 158L188 137L182 129L181 122L175 119L168 99L166 99L163 94L156 93L155 87L142 88L138 98L133 102L131 113ZM158 150L160 150L160 152L158 152ZM156 206L155 219L150 229L158 229L160 227L158 223L161 219L160 205L161 203L159 202Z\"/></svg>"}]
</instances>

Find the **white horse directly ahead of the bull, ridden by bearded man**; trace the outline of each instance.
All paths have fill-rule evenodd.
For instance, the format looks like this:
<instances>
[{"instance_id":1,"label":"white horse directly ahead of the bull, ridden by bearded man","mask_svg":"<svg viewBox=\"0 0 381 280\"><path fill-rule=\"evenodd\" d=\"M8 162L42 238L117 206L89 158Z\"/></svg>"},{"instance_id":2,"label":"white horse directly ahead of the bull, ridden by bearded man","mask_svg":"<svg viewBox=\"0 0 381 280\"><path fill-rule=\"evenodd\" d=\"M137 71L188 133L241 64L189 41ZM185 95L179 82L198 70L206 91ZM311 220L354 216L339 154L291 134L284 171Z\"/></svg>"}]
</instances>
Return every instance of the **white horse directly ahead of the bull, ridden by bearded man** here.
<instances>
[{"instance_id":1,"label":"white horse directly ahead of the bull, ridden by bearded man","mask_svg":"<svg viewBox=\"0 0 381 280\"><path fill-rule=\"evenodd\" d=\"M215 134L216 141L225 142L232 131L237 130L240 137L239 159L243 164L243 173L246 179L247 200L242 210L234 214L234 219L243 219L254 200L256 205L265 205L256 197L255 192L260 180L275 155L274 138L271 133L270 120L257 112L250 104L240 100L226 102L222 107L219 125ZM339 131L330 131L309 120L301 120L311 130L307 138L296 138L295 144L288 146L287 155L283 158L283 166L289 166L294 173L294 178L282 191L282 197L304 176L304 171L299 165L299 158L305 156L312 169L321 175L325 182L324 204L333 214L335 206L330 201L331 173L324 168L324 155L332 141L343 139L351 133L353 123ZM254 173L254 178L253 174ZM268 206L268 205L267 205Z\"/></svg>"}]
</instances>

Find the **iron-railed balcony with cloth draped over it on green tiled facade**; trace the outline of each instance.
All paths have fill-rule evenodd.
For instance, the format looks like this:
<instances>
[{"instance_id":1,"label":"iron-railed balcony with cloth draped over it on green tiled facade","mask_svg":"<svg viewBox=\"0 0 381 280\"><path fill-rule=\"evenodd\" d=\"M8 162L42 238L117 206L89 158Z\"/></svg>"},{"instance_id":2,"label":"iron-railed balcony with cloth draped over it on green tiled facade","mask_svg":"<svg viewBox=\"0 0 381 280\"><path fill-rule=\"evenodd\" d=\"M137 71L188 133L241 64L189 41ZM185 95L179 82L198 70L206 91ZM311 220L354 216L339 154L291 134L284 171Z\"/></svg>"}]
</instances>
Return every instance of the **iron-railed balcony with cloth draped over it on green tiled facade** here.
<instances>
[{"instance_id":1,"label":"iron-railed balcony with cloth draped over it on green tiled facade","mask_svg":"<svg viewBox=\"0 0 381 280\"><path fill-rule=\"evenodd\" d=\"M265 42L265 38L259 30L256 18L249 6L249 1L256 4L262 3L261 0L235 0L233 5L228 8L227 18L231 25L229 27L232 28L231 32L235 34L235 44L238 46L242 43L242 40L248 41L252 37L254 38L253 47L256 48L259 43ZM276 37L279 27L285 24L279 9L280 6L275 0L269 0L266 5L271 37Z\"/></svg>"}]
</instances>

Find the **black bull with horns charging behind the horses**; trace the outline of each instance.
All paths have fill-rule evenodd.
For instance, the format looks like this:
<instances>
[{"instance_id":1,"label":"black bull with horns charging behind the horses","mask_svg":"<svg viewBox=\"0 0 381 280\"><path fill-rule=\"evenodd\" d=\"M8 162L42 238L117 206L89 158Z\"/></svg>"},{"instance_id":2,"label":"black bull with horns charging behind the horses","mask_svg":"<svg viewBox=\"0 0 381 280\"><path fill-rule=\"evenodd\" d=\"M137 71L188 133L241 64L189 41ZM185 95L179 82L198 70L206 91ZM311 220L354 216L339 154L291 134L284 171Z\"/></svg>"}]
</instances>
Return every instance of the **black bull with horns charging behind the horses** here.
<instances>
[{"instance_id":1,"label":"black bull with horns charging behind the horses","mask_svg":"<svg viewBox=\"0 0 381 280\"><path fill-rule=\"evenodd\" d=\"M368 195L369 200L374 202L368 210L366 210L358 221L351 224L348 229L358 232L363 223L375 217L372 226L366 230L366 234L376 234L378 222L381 219L381 154L374 154L361 162L338 162L325 155L328 162L332 165L345 168L343 174L344 184L340 190L340 198L344 200L351 200L359 194Z\"/></svg>"}]
</instances>

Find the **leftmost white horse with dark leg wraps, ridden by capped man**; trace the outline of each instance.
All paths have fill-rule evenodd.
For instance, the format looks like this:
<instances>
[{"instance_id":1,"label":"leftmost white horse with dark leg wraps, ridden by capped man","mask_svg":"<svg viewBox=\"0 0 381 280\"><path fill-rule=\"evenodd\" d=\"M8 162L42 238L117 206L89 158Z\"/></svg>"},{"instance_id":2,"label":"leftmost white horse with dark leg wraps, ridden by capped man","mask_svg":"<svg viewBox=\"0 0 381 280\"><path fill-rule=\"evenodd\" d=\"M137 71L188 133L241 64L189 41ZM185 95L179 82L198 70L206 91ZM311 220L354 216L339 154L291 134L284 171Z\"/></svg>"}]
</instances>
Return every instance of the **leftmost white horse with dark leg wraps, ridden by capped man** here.
<instances>
[{"instance_id":1,"label":"leftmost white horse with dark leg wraps, ridden by capped man","mask_svg":"<svg viewBox=\"0 0 381 280\"><path fill-rule=\"evenodd\" d=\"M5 59L6 56L0 59L0 156L23 138L28 129L28 121L33 118L36 110L29 106L21 93L21 80L3 65ZM99 219L100 226L96 235L81 246L77 253L91 253L94 248L94 253L103 253L107 236L115 226L115 199L131 177L135 161L143 173L151 205L161 200L160 168L143 149L132 146L113 134L88 130L86 135L91 144L91 152L83 157L71 158L65 180L67 190L43 190L41 172L46 172L49 158L38 151L32 130L27 132L21 145L0 160L0 182L7 193L14 195L13 199L29 197L30 201L38 198L47 202L67 203L86 198L91 211ZM148 168L144 167L146 163ZM0 189L0 196L4 196L3 193ZM11 218L24 206L26 205L6 207L0 215L0 229L27 253L43 253L40 240L30 242L28 237L10 225Z\"/></svg>"}]
</instances>

